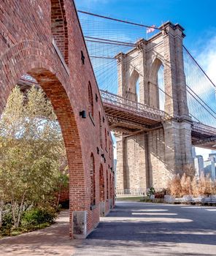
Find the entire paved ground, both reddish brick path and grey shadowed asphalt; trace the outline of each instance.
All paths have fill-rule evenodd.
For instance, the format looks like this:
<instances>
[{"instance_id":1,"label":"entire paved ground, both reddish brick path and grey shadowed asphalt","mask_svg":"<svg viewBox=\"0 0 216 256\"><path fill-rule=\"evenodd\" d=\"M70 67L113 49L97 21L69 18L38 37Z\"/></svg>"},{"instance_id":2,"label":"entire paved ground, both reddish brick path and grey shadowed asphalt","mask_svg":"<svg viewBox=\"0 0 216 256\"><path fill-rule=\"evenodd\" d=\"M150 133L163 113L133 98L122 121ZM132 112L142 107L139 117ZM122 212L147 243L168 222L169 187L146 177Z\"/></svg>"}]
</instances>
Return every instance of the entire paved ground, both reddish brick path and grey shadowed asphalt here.
<instances>
[{"instance_id":1,"label":"entire paved ground, both reddish brick path and grey shadowed asphalt","mask_svg":"<svg viewBox=\"0 0 216 256\"><path fill-rule=\"evenodd\" d=\"M119 202L85 240L68 211L45 230L0 240L0 255L216 255L216 208Z\"/></svg>"}]
</instances>

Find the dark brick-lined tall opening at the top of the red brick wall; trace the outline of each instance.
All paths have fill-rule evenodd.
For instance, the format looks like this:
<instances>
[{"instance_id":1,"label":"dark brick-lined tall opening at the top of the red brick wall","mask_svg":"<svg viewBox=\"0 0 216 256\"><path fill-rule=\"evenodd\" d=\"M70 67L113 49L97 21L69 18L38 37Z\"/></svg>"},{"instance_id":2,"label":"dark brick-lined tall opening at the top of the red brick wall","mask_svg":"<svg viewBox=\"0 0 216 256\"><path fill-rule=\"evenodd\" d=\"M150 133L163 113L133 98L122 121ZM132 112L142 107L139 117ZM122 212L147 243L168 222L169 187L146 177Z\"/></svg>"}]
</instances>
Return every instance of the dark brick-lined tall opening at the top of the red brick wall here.
<instances>
[{"instance_id":1,"label":"dark brick-lined tall opening at the top of the red brick wall","mask_svg":"<svg viewBox=\"0 0 216 256\"><path fill-rule=\"evenodd\" d=\"M63 0L51 0L51 32L66 64L69 63L69 41Z\"/></svg>"}]
</instances>

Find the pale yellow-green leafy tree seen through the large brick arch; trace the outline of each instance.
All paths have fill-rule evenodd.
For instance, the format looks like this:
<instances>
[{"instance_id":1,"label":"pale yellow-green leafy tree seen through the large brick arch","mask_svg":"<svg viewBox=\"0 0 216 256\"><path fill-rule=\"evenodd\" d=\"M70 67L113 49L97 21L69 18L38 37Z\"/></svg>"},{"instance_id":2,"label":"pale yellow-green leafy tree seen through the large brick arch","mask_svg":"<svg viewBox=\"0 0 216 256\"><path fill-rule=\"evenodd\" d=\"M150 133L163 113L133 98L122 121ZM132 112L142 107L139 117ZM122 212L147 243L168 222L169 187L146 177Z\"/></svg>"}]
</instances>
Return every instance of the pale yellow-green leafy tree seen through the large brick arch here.
<instances>
[{"instance_id":1,"label":"pale yellow-green leafy tree seen through the large brick arch","mask_svg":"<svg viewBox=\"0 0 216 256\"><path fill-rule=\"evenodd\" d=\"M63 138L50 101L42 89L32 87L24 97L16 86L0 121L0 214L10 203L18 227L26 207L53 200L62 159Z\"/></svg>"}]
</instances>

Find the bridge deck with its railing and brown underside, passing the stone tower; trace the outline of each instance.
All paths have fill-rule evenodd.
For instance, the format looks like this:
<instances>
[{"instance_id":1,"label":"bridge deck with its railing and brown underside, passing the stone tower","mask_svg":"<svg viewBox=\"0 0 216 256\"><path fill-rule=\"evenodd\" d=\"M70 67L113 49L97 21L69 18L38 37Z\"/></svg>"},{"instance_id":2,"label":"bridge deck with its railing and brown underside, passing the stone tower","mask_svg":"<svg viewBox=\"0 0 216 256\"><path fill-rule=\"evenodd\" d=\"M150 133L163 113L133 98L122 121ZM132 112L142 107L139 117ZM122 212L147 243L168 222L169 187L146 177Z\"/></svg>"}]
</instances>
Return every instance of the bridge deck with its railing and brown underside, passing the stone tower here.
<instances>
[{"instance_id":1,"label":"bridge deck with its railing and brown underside, passing the stone tower","mask_svg":"<svg viewBox=\"0 0 216 256\"><path fill-rule=\"evenodd\" d=\"M25 91L30 86L38 85L34 78L28 75L18 80L18 85ZM104 110L107 114L109 126L113 131L125 132L128 135L150 131L163 127L163 122L173 120L162 110L150 108L139 102L125 99L108 91L101 90ZM216 128L194 122L192 124L192 143L194 146L215 149Z\"/></svg>"}]
</instances>

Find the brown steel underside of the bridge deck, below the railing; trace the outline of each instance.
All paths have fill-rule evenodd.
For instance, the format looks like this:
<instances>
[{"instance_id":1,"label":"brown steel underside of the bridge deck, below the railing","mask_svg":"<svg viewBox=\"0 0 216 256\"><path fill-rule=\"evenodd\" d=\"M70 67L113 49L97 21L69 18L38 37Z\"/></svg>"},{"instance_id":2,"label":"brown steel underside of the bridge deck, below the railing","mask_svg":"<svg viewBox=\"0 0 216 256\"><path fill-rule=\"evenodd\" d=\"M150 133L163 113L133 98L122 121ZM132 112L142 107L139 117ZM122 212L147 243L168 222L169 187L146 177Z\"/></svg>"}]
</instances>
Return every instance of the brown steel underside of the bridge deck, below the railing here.
<instances>
[{"instance_id":1,"label":"brown steel underside of the bridge deck, below the railing","mask_svg":"<svg viewBox=\"0 0 216 256\"><path fill-rule=\"evenodd\" d=\"M104 110L107 114L110 129L114 132L123 132L126 137L161 129L164 121L171 121L168 118L163 120L163 118L158 118L158 116L147 116L139 112L135 113L132 110L113 104L113 102L107 102L106 100L104 101ZM215 150L216 128L193 122L191 126L191 139L193 146Z\"/></svg>"}]
</instances>

